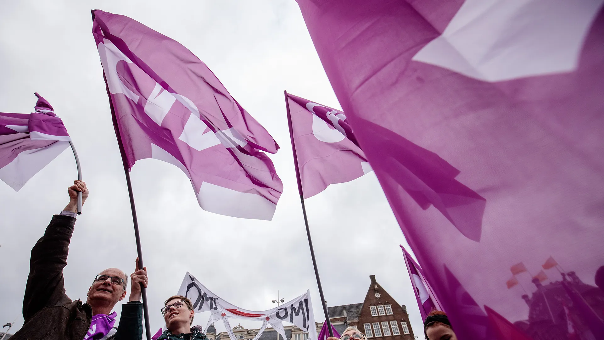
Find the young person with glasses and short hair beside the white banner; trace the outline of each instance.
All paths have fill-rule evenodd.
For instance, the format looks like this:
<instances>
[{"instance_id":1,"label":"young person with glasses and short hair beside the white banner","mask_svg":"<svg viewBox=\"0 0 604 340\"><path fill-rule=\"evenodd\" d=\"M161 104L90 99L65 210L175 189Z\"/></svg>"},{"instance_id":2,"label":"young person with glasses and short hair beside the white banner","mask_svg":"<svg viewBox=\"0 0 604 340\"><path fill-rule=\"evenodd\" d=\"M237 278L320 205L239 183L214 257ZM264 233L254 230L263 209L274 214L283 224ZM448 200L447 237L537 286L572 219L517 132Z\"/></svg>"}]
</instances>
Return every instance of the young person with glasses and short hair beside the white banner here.
<instances>
[{"instance_id":1,"label":"young person with glasses and short hair beside the white banner","mask_svg":"<svg viewBox=\"0 0 604 340\"><path fill-rule=\"evenodd\" d=\"M161 313L164 315L165 330L156 340L208 340L200 326L193 326L195 311L191 300L174 295L165 300Z\"/></svg>"}]
</instances>

